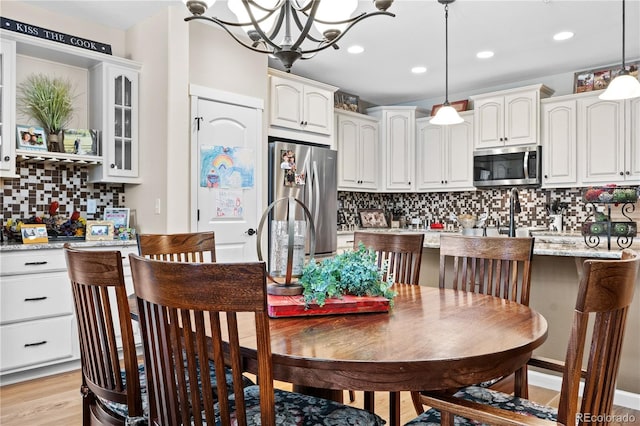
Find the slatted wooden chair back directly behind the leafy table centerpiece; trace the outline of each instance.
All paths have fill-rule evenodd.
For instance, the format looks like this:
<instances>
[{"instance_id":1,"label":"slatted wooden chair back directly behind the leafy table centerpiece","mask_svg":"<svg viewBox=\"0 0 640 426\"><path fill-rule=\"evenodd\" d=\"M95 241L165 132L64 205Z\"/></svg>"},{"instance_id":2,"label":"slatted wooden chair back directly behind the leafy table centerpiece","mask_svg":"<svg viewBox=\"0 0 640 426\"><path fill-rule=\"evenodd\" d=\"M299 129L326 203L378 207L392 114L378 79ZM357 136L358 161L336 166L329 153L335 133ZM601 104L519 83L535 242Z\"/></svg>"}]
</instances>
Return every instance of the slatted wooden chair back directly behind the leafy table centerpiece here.
<instances>
[{"instance_id":1,"label":"slatted wooden chair back directly behind the leafy table centerpiece","mask_svg":"<svg viewBox=\"0 0 640 426\"><path fill-rule=\"evenodd\" d=\"M383 280L392 274L394 282L419 283L424 234L358 231L353 237L354 249L362 242L376 252L378 267L387 263L388 269Z\"/></svg>"}]
</instances>

